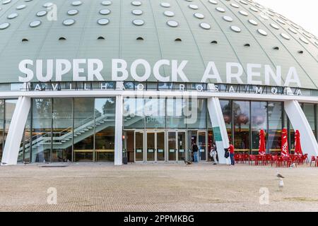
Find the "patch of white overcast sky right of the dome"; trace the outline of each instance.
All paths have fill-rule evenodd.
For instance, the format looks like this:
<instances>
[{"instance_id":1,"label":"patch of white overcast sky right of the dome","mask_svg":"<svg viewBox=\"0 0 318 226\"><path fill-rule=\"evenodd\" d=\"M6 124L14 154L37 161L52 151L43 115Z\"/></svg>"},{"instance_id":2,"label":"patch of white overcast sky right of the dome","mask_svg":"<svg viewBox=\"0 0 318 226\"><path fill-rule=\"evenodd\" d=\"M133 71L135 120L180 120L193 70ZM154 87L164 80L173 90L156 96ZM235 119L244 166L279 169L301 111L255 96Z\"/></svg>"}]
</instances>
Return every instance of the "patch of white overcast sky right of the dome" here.
<instances>
[{"instance_id":1,"label":"patch of white overcast sky right of the dome","mask_svg":"<svg viewBox=\"0 0 318 226\"><path fill-rule=\"evenodd\" d=\"M318 36L317 0L254 0Z\"/></svg>"}]
</instances>

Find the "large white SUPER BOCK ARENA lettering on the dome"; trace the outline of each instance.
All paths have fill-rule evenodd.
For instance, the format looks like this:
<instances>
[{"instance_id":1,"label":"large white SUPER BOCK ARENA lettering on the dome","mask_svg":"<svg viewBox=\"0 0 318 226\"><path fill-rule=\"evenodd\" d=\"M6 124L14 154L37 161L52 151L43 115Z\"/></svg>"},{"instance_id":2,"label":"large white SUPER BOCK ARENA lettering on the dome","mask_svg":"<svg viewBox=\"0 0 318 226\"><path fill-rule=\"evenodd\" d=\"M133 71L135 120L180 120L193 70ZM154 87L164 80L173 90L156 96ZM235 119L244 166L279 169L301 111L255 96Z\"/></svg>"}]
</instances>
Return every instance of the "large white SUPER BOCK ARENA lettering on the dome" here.
<instances>
[{"instance_id":1,"label":"large white SUPER BOCK ARENA lettering on the dome","mask_svg":"<svg viewBox=\"0 0 318 226\"><path fill-rule=\"evenodd\" d=\"M129 76L134 81L147 81L151 75L155 76L156 80L160 82L189 82L187 75L184 73L188 61L177 61L161 59L153 66L145 59L136 59L128 65L124 59L112 59L111 62L111 74L112 81L126 81ZM45 66L45 67L44 67ZM160 74L160 68L163 66L170 67L171 73L169 76L163 76ZM28 83L33 81L34 78L40 82L48 81L63 81L63 76L67 73L73 75L73 81L105 81L102 76L102 69L104 64L100 59L73 59L69 61L67 59L37 59L35 61L30 59L24 59L20 61L18 65L19 70L23 73L23 76L19 76L19 81L22 83ZM220 73L216 64L213 61L209 61L206 65L204 74L201 77L201 83L206 83L208 79L216 81L217 83L238 83L244 84L242 81L242 75L244 73L243 66L239 63L228 62L226 67L226 81L222 81ZM43 71L46 68L46 71ZM137 70L142 69L142 73ZM55 71L55 76L54 76ZM247 64L247 84L251 85L276 85L291 86L296 85L301 87L300 79L295 67L290 67L285 76L285 81L282 80L281 66L276 66L273 69L269 65L261 64ZM262 79L261 76L265 78ZM265 84L263 84L263 82Z\"/></svg>"}]
</instances>

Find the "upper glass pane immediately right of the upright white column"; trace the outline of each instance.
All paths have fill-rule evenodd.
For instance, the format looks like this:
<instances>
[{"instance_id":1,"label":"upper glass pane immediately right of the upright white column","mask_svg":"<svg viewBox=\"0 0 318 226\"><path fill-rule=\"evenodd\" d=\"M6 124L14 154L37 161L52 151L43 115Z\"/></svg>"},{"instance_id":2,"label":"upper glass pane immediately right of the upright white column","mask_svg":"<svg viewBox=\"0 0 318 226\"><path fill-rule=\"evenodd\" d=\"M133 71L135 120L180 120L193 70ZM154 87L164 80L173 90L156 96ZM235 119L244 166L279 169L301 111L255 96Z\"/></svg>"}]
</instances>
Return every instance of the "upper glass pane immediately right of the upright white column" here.
<instances>
[{"instance_id":1,"label":"upper glass pane immediately right of the upright white column","mask_svg":"<svg viewBox=\"0 0 318 226\"><path fill-rule=\"evenodd\" d=\"M143 98L124 99L124 128L144 129Z\"/></svg>"}]
</instances>

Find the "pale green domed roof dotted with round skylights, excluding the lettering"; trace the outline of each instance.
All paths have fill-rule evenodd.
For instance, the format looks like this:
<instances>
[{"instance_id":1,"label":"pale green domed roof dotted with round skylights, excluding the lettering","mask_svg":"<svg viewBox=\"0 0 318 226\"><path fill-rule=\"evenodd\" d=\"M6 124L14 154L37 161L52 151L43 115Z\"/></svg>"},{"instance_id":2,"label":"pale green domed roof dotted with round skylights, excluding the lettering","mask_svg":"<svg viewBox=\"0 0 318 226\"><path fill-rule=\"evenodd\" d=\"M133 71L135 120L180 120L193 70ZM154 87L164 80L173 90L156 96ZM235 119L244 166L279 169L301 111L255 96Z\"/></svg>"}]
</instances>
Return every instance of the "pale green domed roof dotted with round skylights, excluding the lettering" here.
<instances>
[{"instance_id":1,"label":"pale green domed roof dotted with round skylights, excluding the lettering","mask_svg":"<svg viewBox=\"0 0 318 226\"><path fill-rule=\"evenodd\" d=\"M303 88L318 87L318 38L249 0L0 0L0 83L18 82L23 59L100 59L105 81L112 59L187 60L190 82L201 81L209 61L223 83L228 62L243 66L244 83L248 64L260 64L263 84L264 66L281 66L283 81L295 67Z\"/></svg>"}]
</instances>

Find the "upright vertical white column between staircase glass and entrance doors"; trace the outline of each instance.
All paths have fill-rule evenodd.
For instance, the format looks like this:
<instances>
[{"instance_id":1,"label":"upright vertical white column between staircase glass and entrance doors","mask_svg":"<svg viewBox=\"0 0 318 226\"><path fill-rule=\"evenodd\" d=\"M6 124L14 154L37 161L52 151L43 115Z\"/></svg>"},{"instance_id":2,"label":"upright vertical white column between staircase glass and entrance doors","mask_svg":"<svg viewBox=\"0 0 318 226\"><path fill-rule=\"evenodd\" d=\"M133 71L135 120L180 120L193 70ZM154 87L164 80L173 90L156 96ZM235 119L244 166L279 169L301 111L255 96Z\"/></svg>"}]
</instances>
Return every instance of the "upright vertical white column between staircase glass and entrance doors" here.
<instances>
[{"instance_id":1,"label":"upright vertical white column between staircase glass and entrance doors","mask_svg":"<svg viewBox=\"0 0 318 226\"><path fill-rule=\"evenodd\" d=\"M122 114L123 97L116 96L116 119L115 119L115 141L114 141L114 165L122 165Z\"/></svg>"}]
</instances>

